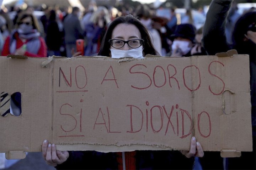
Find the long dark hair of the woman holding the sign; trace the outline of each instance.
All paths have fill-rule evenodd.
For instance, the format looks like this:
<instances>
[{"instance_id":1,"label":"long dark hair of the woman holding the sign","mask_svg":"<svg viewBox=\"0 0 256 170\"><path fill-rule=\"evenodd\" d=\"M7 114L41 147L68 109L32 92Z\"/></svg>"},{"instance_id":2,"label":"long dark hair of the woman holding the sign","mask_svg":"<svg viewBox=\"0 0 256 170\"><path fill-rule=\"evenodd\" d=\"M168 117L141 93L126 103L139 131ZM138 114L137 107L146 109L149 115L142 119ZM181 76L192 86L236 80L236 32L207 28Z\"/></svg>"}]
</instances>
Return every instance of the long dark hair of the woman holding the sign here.
<instances>
[{"instance_id":1,"label":"long dark hair of the woman holding the sign","mask_svg":"<svg viewBox=\"0 0 256 170\"><path fill-rule=\"evenodd\" d=\"M139 19L133 17L132 15L126 15L117 17L108 26L108 29L101 42L100 51L98 52L99 56L110 56L110 43L108 42L108 40L111 39L112 32L118 24L133 24L134 26L136 26L139 29L142 39L144 40L144 55L159 55L158 52L156 52L156 50L154 49L154 46L150 40L148 30L145 28L145 26L139 21Z\"/></svg>"}]
</instances>

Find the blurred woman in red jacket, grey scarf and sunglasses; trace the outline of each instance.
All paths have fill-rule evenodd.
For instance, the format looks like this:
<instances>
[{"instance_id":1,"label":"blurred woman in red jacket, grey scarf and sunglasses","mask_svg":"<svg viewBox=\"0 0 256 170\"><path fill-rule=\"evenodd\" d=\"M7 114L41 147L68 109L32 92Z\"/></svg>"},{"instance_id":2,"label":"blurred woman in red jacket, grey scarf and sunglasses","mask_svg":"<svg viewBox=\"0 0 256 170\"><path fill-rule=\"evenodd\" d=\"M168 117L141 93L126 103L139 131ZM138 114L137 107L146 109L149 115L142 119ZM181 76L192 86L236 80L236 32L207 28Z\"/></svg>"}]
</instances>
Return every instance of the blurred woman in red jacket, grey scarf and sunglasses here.
<instances>
[{"instance_id":1,"label":"blurred woman in red jacket, grey scarf and sunglasses","mask_svg":"<svg viewBox=\"0 0 256 170\"><path fill-rule=\"evenodd\" d=\"M36 18L28 13L22 13L15 29L5 40L1 55L25 55L28 57L47 57L47 46L40 36Z\"/></svg>"}]
</instances>

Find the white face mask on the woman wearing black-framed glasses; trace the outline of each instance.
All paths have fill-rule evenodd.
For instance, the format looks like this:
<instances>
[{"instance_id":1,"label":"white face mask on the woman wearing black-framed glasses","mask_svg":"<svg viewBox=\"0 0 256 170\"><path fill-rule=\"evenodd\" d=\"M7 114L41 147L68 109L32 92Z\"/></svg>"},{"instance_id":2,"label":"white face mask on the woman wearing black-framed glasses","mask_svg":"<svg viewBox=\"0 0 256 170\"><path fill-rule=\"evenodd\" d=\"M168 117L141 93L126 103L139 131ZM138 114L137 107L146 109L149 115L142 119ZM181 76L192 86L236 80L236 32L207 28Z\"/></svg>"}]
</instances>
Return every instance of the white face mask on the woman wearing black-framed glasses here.
<instances>
[{"instance_id":1,"label":"white face mask on the woman wearing black-framed glasses","mask_svg":"<svg viewBox=\"0 0 256 170\"><path fill-rule=\"evenodd\" d=\"M132 50L116 50L116 49L110 49L111 51L111 58L126 58L126 57L132 57L132 58L144 58L143 57L143 48L140 46L137 49Z\"/></svg>"}]
</instances>

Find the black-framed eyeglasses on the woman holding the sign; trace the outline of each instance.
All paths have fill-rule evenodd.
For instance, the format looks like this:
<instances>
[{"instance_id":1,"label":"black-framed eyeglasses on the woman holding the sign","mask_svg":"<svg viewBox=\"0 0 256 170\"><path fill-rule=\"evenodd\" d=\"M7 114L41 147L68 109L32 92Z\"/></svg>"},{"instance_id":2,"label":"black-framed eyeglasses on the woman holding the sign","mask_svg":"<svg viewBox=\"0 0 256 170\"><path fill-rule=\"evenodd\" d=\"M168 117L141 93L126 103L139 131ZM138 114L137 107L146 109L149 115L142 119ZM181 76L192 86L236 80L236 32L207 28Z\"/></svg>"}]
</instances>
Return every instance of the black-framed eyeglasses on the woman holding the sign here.
<instances>
[{"instance_id":1,"label":"black-framed eyeglasses on the woman holding the sign","mask_svg":"<svg viewBox=\"0 0 256 170\"><path fill-rule=\"evenodd\" d=\"M128 44L129 47L133 48L133 49L137 49L139 48L144 40L142 39L133 39L133 40L128 40L128 41L124 41L124 40L118 40L118 39L111 39L108 40L108 42L110 42L110 45L112 47L114 47L115 49L121 49L124 44Z\"/></svg>"}]
</instances>

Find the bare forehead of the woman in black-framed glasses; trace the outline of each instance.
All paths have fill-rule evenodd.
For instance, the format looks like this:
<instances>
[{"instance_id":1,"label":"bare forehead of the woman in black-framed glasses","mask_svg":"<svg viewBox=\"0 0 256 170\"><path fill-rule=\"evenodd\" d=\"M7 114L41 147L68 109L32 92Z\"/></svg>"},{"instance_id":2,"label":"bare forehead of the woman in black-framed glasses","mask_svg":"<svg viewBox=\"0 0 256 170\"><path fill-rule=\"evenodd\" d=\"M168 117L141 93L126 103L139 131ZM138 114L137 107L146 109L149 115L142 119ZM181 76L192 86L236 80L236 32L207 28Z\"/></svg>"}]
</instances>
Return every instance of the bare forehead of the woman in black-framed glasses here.
<instances>
[{"instance_id":1,"label":"bare forehead of the woman in black-framed glasses","mask_svg":"<svg viewBox=\"0 0 256 170\"><path fill-rule=\"evenodd\" d=\"M133 24L118 24L112 32L111 39L130 39L139 38L141 39L141 34L139 29Z\"/></svg>"}]
</instances>

